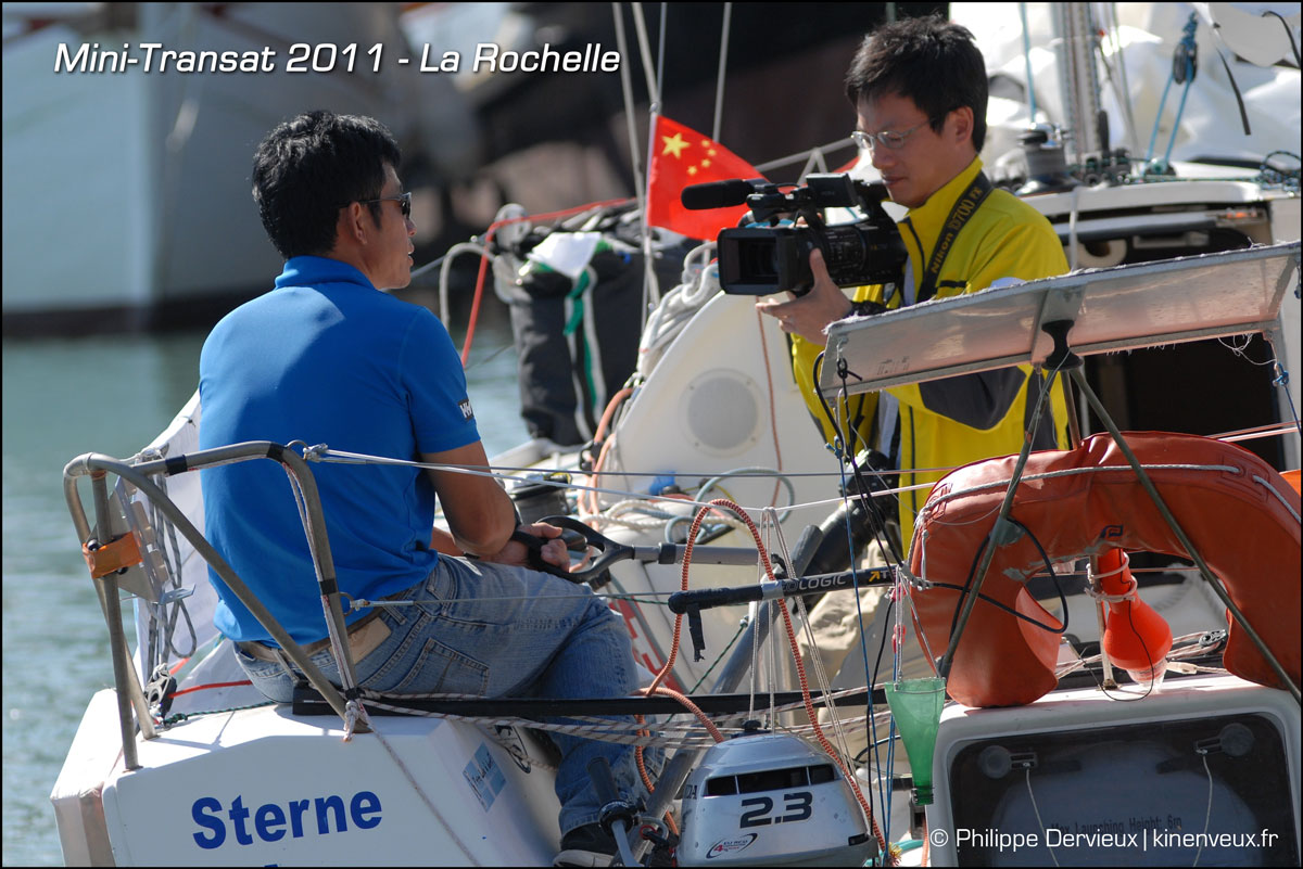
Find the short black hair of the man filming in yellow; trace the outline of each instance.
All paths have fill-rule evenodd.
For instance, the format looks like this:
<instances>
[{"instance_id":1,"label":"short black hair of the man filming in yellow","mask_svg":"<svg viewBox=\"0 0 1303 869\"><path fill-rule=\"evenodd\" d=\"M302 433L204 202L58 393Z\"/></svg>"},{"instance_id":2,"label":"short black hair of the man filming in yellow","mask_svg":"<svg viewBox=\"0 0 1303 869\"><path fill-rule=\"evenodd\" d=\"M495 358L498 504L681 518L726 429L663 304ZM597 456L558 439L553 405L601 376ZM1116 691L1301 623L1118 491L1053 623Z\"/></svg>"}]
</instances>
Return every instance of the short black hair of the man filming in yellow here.
<instances>
[{"instance_id":1,"label":"short black hair of the man filming in yellow","mask_svg":"<svg viewBox=\"0 0 1303 869\"><path fill-rule=\"evenodd\" d=\"M968 105L973 111L972 143L986 140L986 64L967 27L941 16L902 18L864 38L846 73L846 95L876 100L908 96L941 133L946 114Z\"/></svg>"}]
</instances>

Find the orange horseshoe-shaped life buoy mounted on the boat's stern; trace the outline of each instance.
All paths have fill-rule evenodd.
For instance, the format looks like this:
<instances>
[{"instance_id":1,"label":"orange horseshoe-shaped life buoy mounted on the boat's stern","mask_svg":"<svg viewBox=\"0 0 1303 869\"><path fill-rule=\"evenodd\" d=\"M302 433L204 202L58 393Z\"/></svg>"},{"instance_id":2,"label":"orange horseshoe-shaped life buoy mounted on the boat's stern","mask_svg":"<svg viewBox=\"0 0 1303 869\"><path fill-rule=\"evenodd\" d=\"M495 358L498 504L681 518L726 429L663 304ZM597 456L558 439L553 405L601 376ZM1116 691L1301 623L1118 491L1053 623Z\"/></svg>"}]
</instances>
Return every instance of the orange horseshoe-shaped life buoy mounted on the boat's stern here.
<instances>
[{"instance_id":1,"label":"orange horseshoe-shaped life buoy mounted on the boat's stern","mask_svg":"<svg viewBox=\"0 0 1303 869\"><path fill-rule=\"evenodd\" d=\"M1298 684L1299 493L1267 462L1233 444L1160 432L1124 437L1230 600ZM963 588L1016 463L1016 455L975 462L933 487L909 546L916 576ZM1059 622L1024 587L1044 570L1031 536L1052 561L1119 546L1188 557L1108 434L1088 437L1074 450L1033 453L1010 516L1031 535L997 548L981 593L1044 626ZM913 598L919 624L939 654L964 596L933 587ZM1244 630L1229 614L1227 621L1226 669L1283 688ZM1058 647L1058 634L979 600L955 652L947 692L968 706L1032 702L1057 684Z\"/></svg>"}]
</instances>

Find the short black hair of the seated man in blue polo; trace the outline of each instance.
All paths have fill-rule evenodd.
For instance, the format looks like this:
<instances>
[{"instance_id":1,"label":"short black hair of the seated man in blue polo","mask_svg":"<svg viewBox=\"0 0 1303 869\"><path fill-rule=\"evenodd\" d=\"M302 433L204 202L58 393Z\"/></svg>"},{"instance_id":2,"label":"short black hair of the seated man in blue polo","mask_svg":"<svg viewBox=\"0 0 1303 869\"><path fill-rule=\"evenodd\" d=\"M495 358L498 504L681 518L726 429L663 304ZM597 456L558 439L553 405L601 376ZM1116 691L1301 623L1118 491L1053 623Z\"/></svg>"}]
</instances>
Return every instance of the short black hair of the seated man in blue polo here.
<instances>
[{"instance_id":1,"label":"short black hair of the seated man in blue polo","mask_svg":"<svg viewBox=\"0 0 1303 869\"><path fill-rule=\"evenodd\" d=\"M267 237L285 259L335 246L339 209L379 199L384 164L401 152L379 121L358 114L305 112L280 124L253 155L253 198ZM371 203L380 221L380 203Z\"/></svg>"}]
</instances>

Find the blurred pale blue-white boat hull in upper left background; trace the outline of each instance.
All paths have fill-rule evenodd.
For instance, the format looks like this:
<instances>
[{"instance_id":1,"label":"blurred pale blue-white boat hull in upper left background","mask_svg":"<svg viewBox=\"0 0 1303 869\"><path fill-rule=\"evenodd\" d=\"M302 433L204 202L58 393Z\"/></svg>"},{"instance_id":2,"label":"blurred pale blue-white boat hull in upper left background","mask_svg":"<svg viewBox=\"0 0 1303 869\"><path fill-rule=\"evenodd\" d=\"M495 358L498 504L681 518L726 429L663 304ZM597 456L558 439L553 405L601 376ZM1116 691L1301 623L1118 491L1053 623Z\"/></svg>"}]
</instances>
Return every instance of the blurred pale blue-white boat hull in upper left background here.
<instances>
[{"instance_id":1,"label":"blurred pale blue-white boat hull in upper left background","mask_svg":"<svg viewBox=\"0 0 1303 869\"><path fill-rule=\"evenodd\" d=\"M276 3L5 4L5 334L212 323L261 291L280 256L250 208L253 151L308 108L384 118L409 155L453 177L469 172L476 118L450 81L396 64L413 53L399 13L399 4L334 4L328 14ZM152 69L142 72L150 44ZM384 74L349 74L377 60L366 53L374 46L388 52ZM61 47L65 68L52 72ZM253 53L270 70L164 74L164 49ZM296 56L301 72L288 72Z\"/></svg>"}]
</instances>

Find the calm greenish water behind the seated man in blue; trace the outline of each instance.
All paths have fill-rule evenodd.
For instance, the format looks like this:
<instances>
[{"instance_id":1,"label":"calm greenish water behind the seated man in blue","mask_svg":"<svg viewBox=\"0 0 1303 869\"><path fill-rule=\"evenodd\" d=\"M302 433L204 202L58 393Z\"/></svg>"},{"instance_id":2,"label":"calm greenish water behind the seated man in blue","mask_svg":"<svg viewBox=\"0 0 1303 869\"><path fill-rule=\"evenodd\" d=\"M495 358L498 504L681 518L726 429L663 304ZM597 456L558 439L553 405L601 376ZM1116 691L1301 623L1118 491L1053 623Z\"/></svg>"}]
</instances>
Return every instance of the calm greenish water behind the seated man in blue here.
<instances>
[{"instance_id":1,"label":"calm greenish water behind the seated man in blue","mask_svg":"<svg viewBox=\"0 0 1303 869\"><path fill-rule=\"evenodd\" d=\"M82 453L129 457L152 440L194 392L202 343L203 334L4 343L4 865L63 862L50 791L86 702L113 682L63 468ZM526 438L509 345L504 316L482 321L466 371L490 455Z\"/></svg>"}]
</instances>

